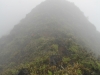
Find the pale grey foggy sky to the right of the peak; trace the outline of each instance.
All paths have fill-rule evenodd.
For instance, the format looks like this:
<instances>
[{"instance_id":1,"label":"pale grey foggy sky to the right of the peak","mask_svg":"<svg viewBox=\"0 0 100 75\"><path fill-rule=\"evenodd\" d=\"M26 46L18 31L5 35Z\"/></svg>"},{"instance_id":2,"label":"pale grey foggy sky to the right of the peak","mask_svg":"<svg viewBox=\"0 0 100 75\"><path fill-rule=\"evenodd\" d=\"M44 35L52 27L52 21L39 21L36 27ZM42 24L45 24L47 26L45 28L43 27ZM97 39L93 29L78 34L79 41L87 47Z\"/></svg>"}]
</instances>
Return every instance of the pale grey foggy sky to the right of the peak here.
<instances>
[{"instance_id":1,"label":"pale grey foggy sky to the right of the peak","mask_svg":"<svg viewBox=\"0 0 100 75\"><path fill-rule=\"evenodd\" d=\"M100 0L68 0L74 2L100 31Z\"/></svg>"}]
</instances>

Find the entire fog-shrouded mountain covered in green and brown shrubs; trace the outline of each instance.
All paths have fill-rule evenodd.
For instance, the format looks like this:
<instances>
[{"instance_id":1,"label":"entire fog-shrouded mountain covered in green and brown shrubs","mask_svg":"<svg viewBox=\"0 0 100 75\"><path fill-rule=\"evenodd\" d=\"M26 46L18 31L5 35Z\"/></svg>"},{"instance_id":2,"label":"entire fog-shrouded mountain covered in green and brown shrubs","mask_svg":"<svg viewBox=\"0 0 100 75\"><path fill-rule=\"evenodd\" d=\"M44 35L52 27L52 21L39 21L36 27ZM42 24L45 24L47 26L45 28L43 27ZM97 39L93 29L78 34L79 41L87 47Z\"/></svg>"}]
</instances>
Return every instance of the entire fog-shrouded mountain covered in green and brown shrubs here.
<instances>
[{"instance_id":1,"label":"entire fog-shrouded mountain covered in green and brown shrubs","mask_svg":"<svg viewBox=\"0 0 100 75\"><path fill-rule=\"evenodd\" d=\"M0 75L99 75L99 45L78 7L46 0L0 39Z\"/></svg>"}]
</instances>

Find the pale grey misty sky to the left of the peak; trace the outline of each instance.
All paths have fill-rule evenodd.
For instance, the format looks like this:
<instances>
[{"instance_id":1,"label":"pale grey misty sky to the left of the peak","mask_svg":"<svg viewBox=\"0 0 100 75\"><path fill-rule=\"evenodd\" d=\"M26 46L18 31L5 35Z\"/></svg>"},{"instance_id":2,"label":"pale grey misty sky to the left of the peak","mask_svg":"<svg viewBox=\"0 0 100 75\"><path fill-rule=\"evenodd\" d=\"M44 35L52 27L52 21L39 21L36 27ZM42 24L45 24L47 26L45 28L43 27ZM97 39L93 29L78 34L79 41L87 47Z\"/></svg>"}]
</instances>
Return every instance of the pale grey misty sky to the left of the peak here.
<instances>
[{"instance_id":1,"label":"pale grey misty sky to the left of the peak","mask_svg":"<svg viewBox=\"0 0 100 75\"><path fill-rule=\"evenodd\" d=\"M26 14L44 0L0 0L0 37L8 34Z\"/></svg>"}]
</instances>

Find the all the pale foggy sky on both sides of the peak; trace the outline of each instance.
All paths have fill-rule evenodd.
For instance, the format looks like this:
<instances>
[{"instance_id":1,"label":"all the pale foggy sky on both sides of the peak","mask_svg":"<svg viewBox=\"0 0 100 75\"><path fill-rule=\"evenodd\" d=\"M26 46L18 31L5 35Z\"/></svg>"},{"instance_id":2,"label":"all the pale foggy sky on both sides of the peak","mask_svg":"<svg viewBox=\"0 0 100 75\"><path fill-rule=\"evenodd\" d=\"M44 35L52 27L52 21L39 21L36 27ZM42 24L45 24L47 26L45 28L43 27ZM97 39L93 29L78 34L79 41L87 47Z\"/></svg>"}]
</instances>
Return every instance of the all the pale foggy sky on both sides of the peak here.
<instances>
[{"instance_id":1,"label":"all the pale foggy sky on both sides of the peak","mask_svg":"<svg viewBox=\"0 0 100 75\"><path fill-rule=\"evenodd\" d=\"M36 5L45 0L0 0L0 37L9 33L14 25ZM74 2L100 31L100 0L68 0Z\"/></svg>"}]
</instances>

